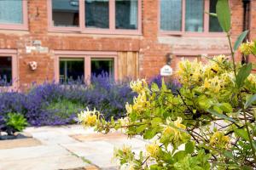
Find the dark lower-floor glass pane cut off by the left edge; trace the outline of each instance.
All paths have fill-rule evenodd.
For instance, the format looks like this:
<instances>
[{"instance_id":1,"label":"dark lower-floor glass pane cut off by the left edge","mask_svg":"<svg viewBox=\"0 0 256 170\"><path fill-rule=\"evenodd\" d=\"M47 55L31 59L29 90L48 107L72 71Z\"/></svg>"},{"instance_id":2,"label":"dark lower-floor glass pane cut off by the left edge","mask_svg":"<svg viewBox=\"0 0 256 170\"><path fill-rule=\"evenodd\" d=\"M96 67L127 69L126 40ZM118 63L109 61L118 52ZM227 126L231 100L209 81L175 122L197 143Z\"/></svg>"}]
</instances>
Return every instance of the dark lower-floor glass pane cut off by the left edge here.
<instances>
[{"instance_id":1,"label":"dark lower-floor glass pane cut off by the left edge","mask_svg":"<svg viewBox=\"0 0 256 170\"><path fill-rule=\"evenodd\" d=\"M0 86L12 84L12 58L0 57Z\"/></svg>"}]
</instances>

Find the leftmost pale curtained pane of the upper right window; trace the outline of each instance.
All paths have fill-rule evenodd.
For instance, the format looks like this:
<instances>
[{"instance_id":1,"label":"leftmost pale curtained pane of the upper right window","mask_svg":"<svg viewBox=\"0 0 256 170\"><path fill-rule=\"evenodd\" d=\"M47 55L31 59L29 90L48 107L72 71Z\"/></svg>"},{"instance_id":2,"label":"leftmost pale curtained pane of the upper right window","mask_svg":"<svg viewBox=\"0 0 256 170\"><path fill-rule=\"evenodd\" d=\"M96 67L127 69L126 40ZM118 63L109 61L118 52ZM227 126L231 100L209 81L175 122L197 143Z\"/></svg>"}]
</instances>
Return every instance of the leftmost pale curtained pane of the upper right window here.
<instances>
[{"instance_id":1,"label":"leftmost pale curtained pane of the upper right window","mask_svg":"<svg viewBox=\"0 0 256 170\"><path fill-rule=\"evenodd\" d=\"M160 29L164 31L181 31L182 0L160 1Z\"/></svg>"}]
</instances>

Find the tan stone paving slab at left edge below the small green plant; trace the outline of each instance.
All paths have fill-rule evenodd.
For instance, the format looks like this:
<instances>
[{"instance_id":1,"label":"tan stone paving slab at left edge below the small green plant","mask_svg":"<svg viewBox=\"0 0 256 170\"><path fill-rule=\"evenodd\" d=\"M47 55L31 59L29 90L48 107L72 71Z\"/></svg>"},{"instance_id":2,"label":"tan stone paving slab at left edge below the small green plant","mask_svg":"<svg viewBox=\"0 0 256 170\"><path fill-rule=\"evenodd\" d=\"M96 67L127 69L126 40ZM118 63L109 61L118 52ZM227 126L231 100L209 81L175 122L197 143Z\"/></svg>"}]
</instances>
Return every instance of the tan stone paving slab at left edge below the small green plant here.
<instances>
[{"instance_id":1,"label":"tan stone paving slab at left edge below the small green plant","mask_svg":"<svg viewBox=\"0 0 256 170\"><path fill-rule=\"evenodd\" d=\"M0 140L0 150L21 148L21 147L31 147L41 145L38 139L12 139L12 140Z\"/></svg>"}]
</instances>

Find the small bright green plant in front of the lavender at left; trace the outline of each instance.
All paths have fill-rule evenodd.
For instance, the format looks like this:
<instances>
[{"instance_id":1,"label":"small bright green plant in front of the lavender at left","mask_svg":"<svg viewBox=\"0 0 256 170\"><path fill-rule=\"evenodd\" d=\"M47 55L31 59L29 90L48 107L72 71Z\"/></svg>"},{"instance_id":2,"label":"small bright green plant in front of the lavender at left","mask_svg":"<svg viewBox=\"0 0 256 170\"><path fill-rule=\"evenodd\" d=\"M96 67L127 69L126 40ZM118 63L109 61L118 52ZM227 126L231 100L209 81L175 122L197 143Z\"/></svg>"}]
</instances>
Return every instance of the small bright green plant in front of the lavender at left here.
<instances>
[{"instance_id":1,"label":"small bright green plant in front of the lavender at left","mask_svg":"<svg viewBox=\"0 0 256 170\"><path fill-rule=\"evenodd\" d=\"M6 124L10 133L20 132L28 125L26 118L20 113L9 113Z\"/></svg>"}]
</instances>

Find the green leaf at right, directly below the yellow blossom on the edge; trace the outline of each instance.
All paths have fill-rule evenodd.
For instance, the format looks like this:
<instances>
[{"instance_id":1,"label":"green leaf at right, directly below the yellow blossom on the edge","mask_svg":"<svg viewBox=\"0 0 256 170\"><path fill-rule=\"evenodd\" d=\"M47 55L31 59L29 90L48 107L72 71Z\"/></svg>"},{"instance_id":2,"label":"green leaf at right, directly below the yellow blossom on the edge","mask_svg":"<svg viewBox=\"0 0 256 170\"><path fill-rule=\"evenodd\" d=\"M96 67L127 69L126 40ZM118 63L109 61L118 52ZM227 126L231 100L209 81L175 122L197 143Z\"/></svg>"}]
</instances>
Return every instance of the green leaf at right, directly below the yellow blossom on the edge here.
<instances>
[{"instance_id":1,"label":"green leaf at right, directly below the yellow blossom on the edge","mask_svg":"<svg viewBox=\"0 0 256 170\"><path fill-rule=\"evenodd\" d=\"M247 77L250 75L252 71L253 65L252 63L249 63L247 65L243 65L240 69L240 71L237 73L236 76L236 85L237 88L241 88L244 81L247 79Z\"/></svg>"}]
</instances>

